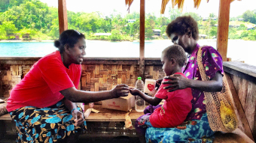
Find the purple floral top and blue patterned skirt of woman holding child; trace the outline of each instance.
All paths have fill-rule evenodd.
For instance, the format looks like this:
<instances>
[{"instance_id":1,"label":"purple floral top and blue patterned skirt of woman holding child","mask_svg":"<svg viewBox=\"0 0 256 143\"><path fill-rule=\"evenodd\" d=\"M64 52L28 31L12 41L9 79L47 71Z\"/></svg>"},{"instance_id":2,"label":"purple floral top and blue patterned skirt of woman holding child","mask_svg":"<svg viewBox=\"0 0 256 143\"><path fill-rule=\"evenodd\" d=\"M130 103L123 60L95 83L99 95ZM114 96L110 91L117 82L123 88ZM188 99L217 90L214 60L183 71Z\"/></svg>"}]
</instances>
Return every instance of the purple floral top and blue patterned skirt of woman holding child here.
<instances>
[{"instance_id":1,"label":"purple floral top and blue patterned skirt of woman holding child","mask_svg":"<svg viewBox=\"0 0 256 143\"><path fill-rule=\"evenodd\" d=\"M202 80L197 64L199 48L200 45L197 44L183 68L183 73L188 79ZM212 79L217 72L223 75L222 58L218 51L212 46L203 46L202 53L206 76ZM145 134L146 142L212 142L214 132L209 127L203 91L191 89L193 95L192 110L187 115L186 121L175 128L148 127Z\"/></svg>"}]
</instances>

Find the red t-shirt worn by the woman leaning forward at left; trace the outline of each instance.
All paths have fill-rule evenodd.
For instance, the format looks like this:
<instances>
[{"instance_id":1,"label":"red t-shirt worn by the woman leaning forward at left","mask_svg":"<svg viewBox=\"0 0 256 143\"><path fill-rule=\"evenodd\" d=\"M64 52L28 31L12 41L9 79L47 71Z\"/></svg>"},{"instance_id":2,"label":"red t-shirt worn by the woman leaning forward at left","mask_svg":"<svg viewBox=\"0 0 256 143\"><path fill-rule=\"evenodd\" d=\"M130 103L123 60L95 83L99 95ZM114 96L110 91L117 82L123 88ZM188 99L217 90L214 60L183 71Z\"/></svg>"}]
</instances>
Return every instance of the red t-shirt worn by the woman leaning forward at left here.
<instances>
[{"instance_id":1,"label":"red t-shirt worn by the woman leaning forward at left","mask_svg":"<svg viewBox=\"0 0 256 143\"><path fill-rule=\"evenodd\" d=\"M81 64L64 66L59 51L44 56L12 90L7 102L8 112L24 106L53 106L63 95L59 91L78 88Z\"/></svg>"}]
</instances>

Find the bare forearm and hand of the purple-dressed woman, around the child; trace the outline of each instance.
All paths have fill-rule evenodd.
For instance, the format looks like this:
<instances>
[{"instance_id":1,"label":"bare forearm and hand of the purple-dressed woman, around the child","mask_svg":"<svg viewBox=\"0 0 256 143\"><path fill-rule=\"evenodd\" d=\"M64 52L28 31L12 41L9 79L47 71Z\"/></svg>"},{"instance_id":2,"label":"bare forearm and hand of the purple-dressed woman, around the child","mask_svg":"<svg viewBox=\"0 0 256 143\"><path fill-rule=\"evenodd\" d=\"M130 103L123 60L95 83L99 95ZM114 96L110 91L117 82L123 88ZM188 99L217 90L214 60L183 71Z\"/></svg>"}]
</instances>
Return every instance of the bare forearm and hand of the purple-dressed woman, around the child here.
<instances>
[{"instance_id":1,"label":"bare forearm and hand of the purple-dressed woman, around the child","mask_svg":"<svg viewBox=\"0 0 256 143\"><path fill-rule=\"evenodd\" d=\"M218 92L221 91L223 85L222 75L219 72L217 72L211 80L205 82L194 79L186 79L184 76L179 74L167 76L164 79L172 79L171 81L163 82L163 84L172 84L165 87L165 89L172 88L169 90L169 92L184 88L195 88L200 91Z\"/></svg>"}]
</instances>

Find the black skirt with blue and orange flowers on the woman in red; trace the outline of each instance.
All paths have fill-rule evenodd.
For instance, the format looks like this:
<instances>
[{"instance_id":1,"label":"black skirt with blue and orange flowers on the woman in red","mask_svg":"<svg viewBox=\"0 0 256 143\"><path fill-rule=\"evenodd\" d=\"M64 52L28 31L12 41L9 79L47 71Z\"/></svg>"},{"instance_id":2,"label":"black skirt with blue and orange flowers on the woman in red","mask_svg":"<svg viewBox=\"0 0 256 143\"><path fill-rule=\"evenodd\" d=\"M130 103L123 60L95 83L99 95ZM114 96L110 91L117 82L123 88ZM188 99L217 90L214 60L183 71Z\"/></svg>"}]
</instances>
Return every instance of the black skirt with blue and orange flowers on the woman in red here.
<instances>
[{"instance_id":1,"label":"black skirt with blue and orange flowers on the woman in red","mask_svg":"<svg viewBox=\"0 0 256 143\"><path fill-rule=\"evenodd\" d=\"M82 112L80 106L78 110ZM16 122L17 142L56 142L87 130L86 121L80 127L75 126L74 118L62 101L45 108L26 106L9 113Z\"/></svg>"}]
</instances>

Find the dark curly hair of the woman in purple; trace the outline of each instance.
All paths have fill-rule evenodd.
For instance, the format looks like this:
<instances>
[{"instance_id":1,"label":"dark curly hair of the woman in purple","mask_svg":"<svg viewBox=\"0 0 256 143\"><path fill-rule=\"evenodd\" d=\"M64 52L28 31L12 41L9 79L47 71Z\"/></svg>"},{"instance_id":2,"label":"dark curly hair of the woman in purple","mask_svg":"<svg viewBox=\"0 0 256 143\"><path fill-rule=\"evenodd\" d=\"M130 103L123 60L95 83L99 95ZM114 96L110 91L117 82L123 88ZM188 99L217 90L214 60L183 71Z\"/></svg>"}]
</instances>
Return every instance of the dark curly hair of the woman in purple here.
<instances>
[{"instance_id":1,"label":"dark curly hair of the woman in purple","mask_svg":"<svg viewBox=\"0 0 256 143\"><path fill-rule=\"evenodd\" d=\"M194 20L194 18L191 16L178 16L175 20L167 25L166 34L168 37L170 37L172 33L184 35L187 33L188 29L192 31L192 37L194 40L198 40L199 31L196 20Z\"/></svg>"}]
</instances>

